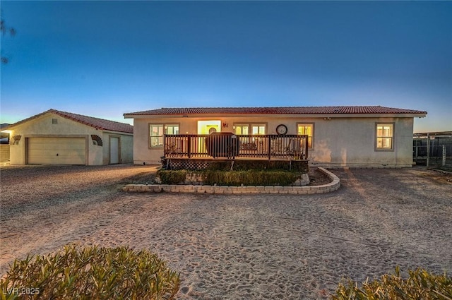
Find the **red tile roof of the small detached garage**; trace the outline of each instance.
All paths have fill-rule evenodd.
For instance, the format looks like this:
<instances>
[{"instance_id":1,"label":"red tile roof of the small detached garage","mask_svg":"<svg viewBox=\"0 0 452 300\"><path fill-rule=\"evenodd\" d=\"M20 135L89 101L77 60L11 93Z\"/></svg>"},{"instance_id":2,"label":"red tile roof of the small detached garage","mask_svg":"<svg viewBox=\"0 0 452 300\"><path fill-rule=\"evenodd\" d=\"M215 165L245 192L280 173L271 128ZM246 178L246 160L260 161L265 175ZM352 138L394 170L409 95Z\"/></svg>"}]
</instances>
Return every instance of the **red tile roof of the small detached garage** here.
<instances>
[{"instance_id":1,"label":"red tile roof of the small detached garage","mask_svg":"<svg viewBox=\"0 0 452 300\"><path fill-rule=\"evenodd\" d=\"M47 113L57 114L66 119L70 119L72 121L76 121L78 123L85 124L85 125L88 125L88 126L96 128L96 129L100 129L100 130L133 133L133 126L131 126L130 124L120 123L120 122L116 122L116 121L109 121L109 120L105 120L105 119L99 119L99 118L95 118L93 116L83 116L82 114L73 114L71 112L61 112L57 109L49 109L49 110L42 112L40 114L37 114L35 116L31 116L28 119L23 119L22 121L18 121L15 124L11 124L8 127L17 126L19 124L25 123L26 121L36 119L37 117L42 116Z\"/></svg>"}]
</instances>

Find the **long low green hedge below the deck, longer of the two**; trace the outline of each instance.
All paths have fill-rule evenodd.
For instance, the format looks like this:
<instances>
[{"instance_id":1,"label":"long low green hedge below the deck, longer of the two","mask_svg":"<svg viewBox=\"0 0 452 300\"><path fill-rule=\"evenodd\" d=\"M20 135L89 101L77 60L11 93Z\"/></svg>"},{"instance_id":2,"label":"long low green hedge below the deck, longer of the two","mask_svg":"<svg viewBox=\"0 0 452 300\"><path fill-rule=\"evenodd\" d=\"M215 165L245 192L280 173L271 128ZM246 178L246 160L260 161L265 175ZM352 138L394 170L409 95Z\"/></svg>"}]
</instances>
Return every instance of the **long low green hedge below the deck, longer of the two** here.
<instances>
[{"instance_id":1,"label":"long low green hedge below the deck, longer of the two","mask_svg":"<svg viewBox=\"0 0 452 300\"><path fill-rule=\"evenodd\" d=\"M220 186L290 186L299 173L287 171L212 171L203 172L204 184Z\"/></svg>"}]
</instances>

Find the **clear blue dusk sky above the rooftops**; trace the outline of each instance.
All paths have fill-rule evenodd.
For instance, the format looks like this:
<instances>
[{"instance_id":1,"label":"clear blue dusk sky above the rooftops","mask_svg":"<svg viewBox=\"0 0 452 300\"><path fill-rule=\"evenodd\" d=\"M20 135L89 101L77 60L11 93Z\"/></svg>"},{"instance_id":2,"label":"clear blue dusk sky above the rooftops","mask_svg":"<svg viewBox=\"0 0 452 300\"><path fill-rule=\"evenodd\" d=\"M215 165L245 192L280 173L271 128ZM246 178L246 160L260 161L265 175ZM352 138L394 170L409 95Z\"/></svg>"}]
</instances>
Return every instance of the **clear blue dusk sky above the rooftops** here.
<instances>
[{"instance_id":1,"label":"clear blue dusk sky above the rooftops","mask_svg":"<svg viewBox=\"0 0 452 300\"><path fill-rule=\"evenodd\" d=\"M451 1L1 1L0 123L47 109L381 105L452 131Z\"/></svg>"}]
</instances>

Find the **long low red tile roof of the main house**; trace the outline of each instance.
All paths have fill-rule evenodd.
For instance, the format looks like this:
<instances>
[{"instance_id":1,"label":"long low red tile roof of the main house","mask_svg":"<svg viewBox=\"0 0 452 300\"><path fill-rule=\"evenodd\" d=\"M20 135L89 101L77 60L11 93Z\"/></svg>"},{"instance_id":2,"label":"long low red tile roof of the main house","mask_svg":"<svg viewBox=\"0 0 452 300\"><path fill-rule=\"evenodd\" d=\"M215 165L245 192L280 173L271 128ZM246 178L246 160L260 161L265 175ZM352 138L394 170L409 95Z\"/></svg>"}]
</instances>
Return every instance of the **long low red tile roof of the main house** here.
<instances>
[{"instance_id":1,"label":"long low red tile roof of the main house","mask_svg":"<svg viewBox=\"0 0 452 300\"><path fill-rule=\"evenodd\" d=\"M341 107L193 107L161 108L143 112L126 113L140 115L191 115L191 114L427 114L427 112L381 106Z\"/></svg>"}]
</instances>

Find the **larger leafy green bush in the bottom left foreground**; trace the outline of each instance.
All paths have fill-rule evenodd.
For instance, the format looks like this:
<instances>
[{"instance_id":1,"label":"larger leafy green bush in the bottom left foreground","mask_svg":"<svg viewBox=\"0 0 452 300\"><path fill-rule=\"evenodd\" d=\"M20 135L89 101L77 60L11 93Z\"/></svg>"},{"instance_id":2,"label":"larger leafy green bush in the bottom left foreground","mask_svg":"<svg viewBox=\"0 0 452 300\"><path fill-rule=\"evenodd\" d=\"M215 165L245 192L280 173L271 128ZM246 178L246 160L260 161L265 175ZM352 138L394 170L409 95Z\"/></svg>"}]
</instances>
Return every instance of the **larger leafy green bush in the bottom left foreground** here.
<instances>
[{"instance_id":1,"label":"larger leafy green bush in the bottom left foreground","mask_svg":"<svg viewBox=\"0 0 452 300\"><path fill-rule=\"evenodd\" d=\"M179 275L149 251L66 246L15 260L1 299L174 299Z\"/></svg>"}]
</instances>

